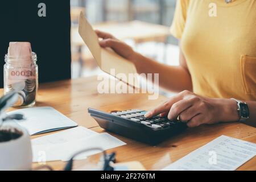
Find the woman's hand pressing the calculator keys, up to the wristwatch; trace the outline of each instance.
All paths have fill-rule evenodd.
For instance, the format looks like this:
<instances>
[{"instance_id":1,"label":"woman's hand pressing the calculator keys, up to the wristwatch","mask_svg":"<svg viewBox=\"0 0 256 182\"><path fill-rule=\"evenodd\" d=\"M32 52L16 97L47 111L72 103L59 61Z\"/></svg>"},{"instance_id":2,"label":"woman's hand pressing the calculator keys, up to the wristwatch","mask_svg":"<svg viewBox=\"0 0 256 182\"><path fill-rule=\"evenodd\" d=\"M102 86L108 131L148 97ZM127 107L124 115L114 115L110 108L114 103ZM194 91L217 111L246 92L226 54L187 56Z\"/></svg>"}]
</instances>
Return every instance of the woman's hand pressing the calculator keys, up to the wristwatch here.
<instances>
[{"instance_id":1,"label":"woman's hand pressing the calculator keys, up to the wristwatch","mask_svg":"<svg viewBox=\"0 0 256 182\"><path fill-rule=\"evenodd\" d=\"M151 118L160 114L168 119L186 122L188 127L218 122L235 122L239 120L236 101L197 96L184 91L170 98L167 102L149 111L145 117Z\"/></svg>"}]
</instances>

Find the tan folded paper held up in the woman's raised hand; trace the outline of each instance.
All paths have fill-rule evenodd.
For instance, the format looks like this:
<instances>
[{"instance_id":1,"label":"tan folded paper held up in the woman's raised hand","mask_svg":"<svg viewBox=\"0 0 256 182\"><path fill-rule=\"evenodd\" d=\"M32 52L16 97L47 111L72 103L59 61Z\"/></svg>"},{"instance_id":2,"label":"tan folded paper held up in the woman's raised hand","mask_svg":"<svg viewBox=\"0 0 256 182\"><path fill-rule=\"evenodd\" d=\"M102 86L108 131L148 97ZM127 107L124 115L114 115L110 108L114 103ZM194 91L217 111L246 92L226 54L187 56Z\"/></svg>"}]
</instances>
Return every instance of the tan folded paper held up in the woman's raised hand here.
<instances>
[{"instance_id":1,"label":"tan folded paper held up in the woman's raised hand","mask_svg":"<svg viewBox=\"0 0 256 182\"><path fill-rule=\"evenodd\" d=\"M112 49L101 48L98 36L81 12L79 19L79 34L92 52L102 71L112 75L127 84L139 88L137 69L133 63L117 55ZM114 72L112 70L114 69ZM114 73L114 74L113 74ZM124 80L124 76L126 80ZM129 78L130 76L130 78ZM131 79L132 77L132 79Z\"/></svg>"}]
</instances>

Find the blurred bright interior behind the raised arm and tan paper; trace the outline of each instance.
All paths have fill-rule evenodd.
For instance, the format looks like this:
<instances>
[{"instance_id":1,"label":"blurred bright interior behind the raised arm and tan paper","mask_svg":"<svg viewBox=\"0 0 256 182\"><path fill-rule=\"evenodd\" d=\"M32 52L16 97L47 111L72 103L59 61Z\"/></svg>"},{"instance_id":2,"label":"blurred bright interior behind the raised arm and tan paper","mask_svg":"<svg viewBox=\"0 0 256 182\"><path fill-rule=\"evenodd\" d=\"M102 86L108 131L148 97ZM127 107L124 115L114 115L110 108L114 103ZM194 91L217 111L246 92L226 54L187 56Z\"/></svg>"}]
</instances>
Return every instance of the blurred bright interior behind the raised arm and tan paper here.
<instances>
[{"instance_id":1,"label":"blurred bright interior behind the raised arm and tan paper","mask_svg":"<svg viewBox=\"0 0 256 182\"><path fill-rule=\"evenodd\" d=\"M83 11L94 29L113 34L135 51L178 65L179 47L170 35L176 0L71 0L72 78L102 73L78 34Z\"/></svg>"}]
</instances>

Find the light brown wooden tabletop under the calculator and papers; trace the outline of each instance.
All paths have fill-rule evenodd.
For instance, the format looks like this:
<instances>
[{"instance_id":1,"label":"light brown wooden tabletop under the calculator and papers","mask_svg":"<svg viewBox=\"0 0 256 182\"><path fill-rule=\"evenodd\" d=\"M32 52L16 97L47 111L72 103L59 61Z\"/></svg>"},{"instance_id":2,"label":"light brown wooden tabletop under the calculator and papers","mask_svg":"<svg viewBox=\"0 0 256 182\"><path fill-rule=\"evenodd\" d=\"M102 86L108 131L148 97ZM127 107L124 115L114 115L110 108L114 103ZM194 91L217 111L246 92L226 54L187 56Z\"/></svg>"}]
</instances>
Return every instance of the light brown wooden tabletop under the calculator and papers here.
<instances>
[{"instance_id":1,"label":"light brown wooden tabletop under the calculator and papers","mask_svg":"<svg viewBox=\"0 0 256 182\"><path fill-rule=\"evenodd\" d=\"M90 117L87 112L88 107L104 111L135 108L148 110L166 100L165 97L160 96L158 100L149 101L147 94L98 94L97 84L97 77L41 84L36 106L52 106L80 126L102 133L105 131L98 127L96 121ZM187 129L183 134L155 147L119 135L112 135L127 143L126 146L108 151L117 152L117 162L138 160L148 170L162 169L221 135L256 143L256 129L242 123L226 123ZM36 137L40 136L42 135ZM47 164L56 170L64 167L63 162L49 162ZM34 164L34 167L36 166L38 164ZM256 158L251 159L238 170L256 170Z\"/></svg>"}]
</instances>

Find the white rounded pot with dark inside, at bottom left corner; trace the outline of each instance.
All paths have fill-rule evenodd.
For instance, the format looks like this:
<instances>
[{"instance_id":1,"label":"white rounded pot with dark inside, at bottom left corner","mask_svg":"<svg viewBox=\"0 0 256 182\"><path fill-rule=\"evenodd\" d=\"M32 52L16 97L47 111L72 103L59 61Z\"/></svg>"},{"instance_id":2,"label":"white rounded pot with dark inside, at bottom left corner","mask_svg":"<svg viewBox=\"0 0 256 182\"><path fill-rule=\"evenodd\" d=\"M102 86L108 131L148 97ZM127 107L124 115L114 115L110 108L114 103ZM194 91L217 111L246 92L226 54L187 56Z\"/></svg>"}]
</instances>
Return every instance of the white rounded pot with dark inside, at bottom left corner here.
<instances>
[{"instance_id":1,"label":"white rounded pot with dark inside, at bottom left corner","mask_svg":"<svg viewBox=\"0 0 256 182\"><path fill-rule=\"evenodd\" d=\"M28 171L32 168L32 149L27 130L15 122L7 122L2 129L15 129L22 135L8 142L0 142L0 171Z\"/></svg>"}]
</instances>

